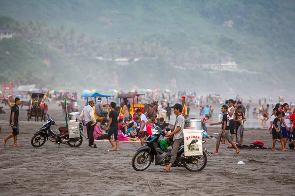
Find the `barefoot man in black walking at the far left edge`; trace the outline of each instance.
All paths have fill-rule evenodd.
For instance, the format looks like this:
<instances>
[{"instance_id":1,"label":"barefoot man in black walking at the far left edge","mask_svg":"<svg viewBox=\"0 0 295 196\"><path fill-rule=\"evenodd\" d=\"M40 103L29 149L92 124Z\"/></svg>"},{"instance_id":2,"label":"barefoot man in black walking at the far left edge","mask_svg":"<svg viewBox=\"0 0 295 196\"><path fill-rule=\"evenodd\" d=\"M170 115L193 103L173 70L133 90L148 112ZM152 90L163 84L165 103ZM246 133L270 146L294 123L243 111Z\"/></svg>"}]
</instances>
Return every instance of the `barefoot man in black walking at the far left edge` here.
<instances>
[{"instance_id":1,"label":"barefoot man in black walking at the far left edge","mask_svg":"<svg viewBox=\"0 0 295 196\"><path fill-rule=\"evenodd\" d=\"M14 105L11 107L10 112L10 126L12 127L12 133L10 133L5 139L3 139L3 144L6 146L6 141L9 138L13 137L13 146L14 147L20 147L20 145L17 144L17 135L19 134L19 123L18 123L18 116L19 116L19 105L21 104L20 98L14 99Z\"/></svg>"}]
</instances>

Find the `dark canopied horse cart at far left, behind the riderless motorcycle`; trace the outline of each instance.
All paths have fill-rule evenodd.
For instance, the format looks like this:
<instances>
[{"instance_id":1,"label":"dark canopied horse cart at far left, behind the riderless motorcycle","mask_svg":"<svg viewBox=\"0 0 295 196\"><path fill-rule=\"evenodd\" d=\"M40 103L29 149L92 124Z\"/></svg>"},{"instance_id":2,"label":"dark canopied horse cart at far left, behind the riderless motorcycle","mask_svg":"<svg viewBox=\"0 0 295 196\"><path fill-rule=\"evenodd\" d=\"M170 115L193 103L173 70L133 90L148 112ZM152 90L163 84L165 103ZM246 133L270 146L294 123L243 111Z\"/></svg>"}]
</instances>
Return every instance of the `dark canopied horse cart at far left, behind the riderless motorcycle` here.
<instances>
[{"instance_id":1,"label":"dark canopied horse cart at far left, behind the riderless motorcycle","mask_svg":"<svg viewBox=\"0 0 295 196\"><path fill-rule=\"evenodd\" d=\"M40 120L46 121L46 110L44 110L44 107L47 107L46 103L44 103L44 93L32 93L30 95L30 108L27 109L28 111L28 121L35 117L35 121Z\"/></svg>"}]
</instances>

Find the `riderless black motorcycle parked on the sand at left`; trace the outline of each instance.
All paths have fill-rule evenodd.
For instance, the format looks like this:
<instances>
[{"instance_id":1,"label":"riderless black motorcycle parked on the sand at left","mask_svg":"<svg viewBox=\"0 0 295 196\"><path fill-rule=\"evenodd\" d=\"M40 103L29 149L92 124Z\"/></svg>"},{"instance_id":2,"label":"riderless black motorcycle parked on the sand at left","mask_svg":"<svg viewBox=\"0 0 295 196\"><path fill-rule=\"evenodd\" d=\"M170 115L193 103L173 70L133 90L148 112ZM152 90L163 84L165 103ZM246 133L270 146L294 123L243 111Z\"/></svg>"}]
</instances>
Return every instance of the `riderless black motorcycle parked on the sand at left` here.
<instances>
[{"instance_id":1,"label":"riderless black motorcycle parked on the sand at left","mask_svg":"<svg viewBox=\"0 0 295 196\"><path fill-rule=\"evenodd\" d=\"M41 147L47 141L54 142L56 144L66 144L70 147L80 147L83 142L83 123L79 123L80 138L69 138L68 127L61 126L59 127L59 133L56 134L50 129L51 125L57 125L49 115L46 123L34 133L34 136L31 139L31 145L33 147ZM83 136L83 137L82 137ZM86 137L85 137L86 138Z\"/></svg>"}]
</instances>

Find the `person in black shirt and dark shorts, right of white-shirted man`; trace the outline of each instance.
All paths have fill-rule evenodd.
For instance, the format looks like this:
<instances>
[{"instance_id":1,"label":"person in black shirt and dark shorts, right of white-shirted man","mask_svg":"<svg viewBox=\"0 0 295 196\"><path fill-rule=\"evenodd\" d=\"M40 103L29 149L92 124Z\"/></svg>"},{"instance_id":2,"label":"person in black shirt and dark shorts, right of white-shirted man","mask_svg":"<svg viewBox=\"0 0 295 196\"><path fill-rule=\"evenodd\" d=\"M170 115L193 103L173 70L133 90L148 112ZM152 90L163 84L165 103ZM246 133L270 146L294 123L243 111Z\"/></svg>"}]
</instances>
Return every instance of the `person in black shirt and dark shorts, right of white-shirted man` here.
<instances>
[{"instance_id":1,"label":"person in black shirt and dark shorts, right of white-shirted man","mask_svg":"<svg viewBox=\"0 0 295 196\"><path fill-rule=\"evenodd\" d=\"M119 150L119 140L118 140L118 112L115 110L116 107L116 103L115 102L111 102L111 111L109 114L109 118L110 118L110 122L108 124L108 126L106 127L106 130L108 131L108 140L112 145L112 148L110 150ZM113 143L113 140L111 138L111 136L114 134L114 138L116 141L116 147Z\"/></svg>"}]
</instances>

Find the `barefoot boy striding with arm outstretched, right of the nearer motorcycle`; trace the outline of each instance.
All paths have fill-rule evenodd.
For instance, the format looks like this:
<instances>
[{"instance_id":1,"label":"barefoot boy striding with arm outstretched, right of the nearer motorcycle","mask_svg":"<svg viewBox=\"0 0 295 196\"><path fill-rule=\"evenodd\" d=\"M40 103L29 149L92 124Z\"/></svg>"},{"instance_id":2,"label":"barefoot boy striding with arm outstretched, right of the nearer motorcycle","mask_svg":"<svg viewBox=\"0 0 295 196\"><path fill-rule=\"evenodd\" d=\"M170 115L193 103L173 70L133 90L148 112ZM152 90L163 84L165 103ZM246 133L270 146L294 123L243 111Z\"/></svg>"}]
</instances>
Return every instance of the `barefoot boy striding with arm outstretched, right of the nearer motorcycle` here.
<instances>
[{"instance_id":1,"label":"barefoot boy striding with arm outstretched, right of the nearer motorcycle","mask_svg":"<svg viewBox=\"0 0 295 196\"><path fill-rule=\"evenodd\" d=\"M216 149L215 152L212 152L212 154L218 154L218 149L220 146L220 142L223 137L225 137L229 143L236 149L236 154L240 152L240 150L236 147L236 144L233 142L233 138L230 134L230 116L228 115L228 106L223 105L221 108L221 112L224 113L222 117L222 121L219 123L210 123L210 126L221 124L222 130L220 131L218 137L217 137L217 142L216 142Z\"/></svg>"}]
</instances>

